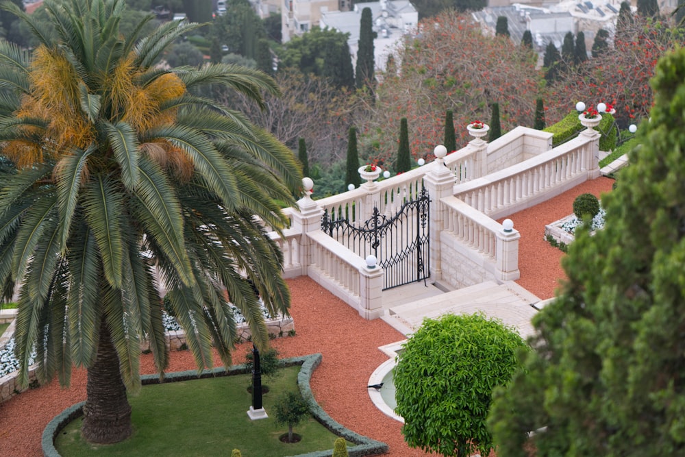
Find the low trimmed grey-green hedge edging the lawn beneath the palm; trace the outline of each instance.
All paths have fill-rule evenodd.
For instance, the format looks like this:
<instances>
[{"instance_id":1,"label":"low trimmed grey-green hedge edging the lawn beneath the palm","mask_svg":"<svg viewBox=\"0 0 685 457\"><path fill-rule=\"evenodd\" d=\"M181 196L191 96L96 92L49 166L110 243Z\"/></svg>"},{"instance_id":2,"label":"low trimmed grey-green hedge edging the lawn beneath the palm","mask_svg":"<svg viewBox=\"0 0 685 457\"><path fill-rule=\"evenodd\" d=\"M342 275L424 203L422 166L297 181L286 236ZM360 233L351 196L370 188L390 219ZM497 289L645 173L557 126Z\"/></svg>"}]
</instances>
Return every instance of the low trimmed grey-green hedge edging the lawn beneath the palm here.
<instances>
[{"instance_id":1,"label":"low trimmed grey-green hedge edging the lawn beneath the palm","mask_svg":"<svg viewBox=\"0 0 685 457\"><path fill-rule=\"evenodd\" d=\"M297 384L303 399L305 399L305 401L309 404L312 416L334 434L342 436L351 443L355 443L354 446L351 446L347 449L350 457L386 454L388 452L388 445L386 443L375 441L367 436L362 436L343 427L343 425L340 425L340 423L334 421L333 418L330 417L328 413L325 412L321 406L319 406L318 403L316 403L314 394L312 393L312 388L310 386L310 380L312 379L314 369L319 367L321 364L321 358L321 354L291 357L281 360L281 366L292 367L295 365L301 365L301 369L299 373L297 373ZM202 378L240 375L245 373L247 373L245 364L234 365L228 369L220 367L211 370L205 370L199 375L195 370L176 371L174 373L166 373L166 375L164 375L164 382L190 381ZM142 375L140 376L140 381L144 386L147 384L160 384L160 377L158 375ZM60 433L60 430L62 430L66 424L83 414L82 408L84 404L86 404L86 402L80 402L70 406L69 408L66 408L66 410L60 412L60 414L55 416L54 419L47 424L47 427L45 430L43 430L42 434L42 449L43 454L46 457L60 457L60 453L57 452L57 449L55 449L54 445L55 436ZM331 457L332 455L333 449L328 449L326 451L300 454L297 457Z\"/></svg>"}]
</instances>

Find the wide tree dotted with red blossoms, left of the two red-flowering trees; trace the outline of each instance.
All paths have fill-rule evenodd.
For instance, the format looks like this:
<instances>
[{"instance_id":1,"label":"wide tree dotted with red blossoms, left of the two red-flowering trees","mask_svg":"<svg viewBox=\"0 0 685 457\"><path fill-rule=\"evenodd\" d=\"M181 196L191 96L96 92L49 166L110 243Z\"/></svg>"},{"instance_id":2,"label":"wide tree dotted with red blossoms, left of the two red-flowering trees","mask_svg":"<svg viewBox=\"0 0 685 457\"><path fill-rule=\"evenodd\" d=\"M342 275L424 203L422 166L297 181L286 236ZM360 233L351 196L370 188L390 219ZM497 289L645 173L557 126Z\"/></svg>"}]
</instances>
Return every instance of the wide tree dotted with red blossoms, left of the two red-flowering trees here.
<instances>
[{"instance_id":1,"label":"wide tree dotted with red blossoms, left of the two red-flowering trees","mask_svg":"<svg viewBox=\"0 0 685 457\"><path fill-rule=\"evenodd\" d=\"M539 82L536 55L511 40L483 36L480 27L454 11L422 21L420 37L408 37L398 49L399 73L387 72L377 99L366 101L360 140L379 160L392 158L401 117L410 126L412 153L425 156L444 134L450 109L461 125L457 147L466 143L466 124L489 119L488 102L499 101L501 125L532 125ZM416 157L414 157L415 159ZM380 162L379 162L380 163Z\"/></svg>"}]
</instances>

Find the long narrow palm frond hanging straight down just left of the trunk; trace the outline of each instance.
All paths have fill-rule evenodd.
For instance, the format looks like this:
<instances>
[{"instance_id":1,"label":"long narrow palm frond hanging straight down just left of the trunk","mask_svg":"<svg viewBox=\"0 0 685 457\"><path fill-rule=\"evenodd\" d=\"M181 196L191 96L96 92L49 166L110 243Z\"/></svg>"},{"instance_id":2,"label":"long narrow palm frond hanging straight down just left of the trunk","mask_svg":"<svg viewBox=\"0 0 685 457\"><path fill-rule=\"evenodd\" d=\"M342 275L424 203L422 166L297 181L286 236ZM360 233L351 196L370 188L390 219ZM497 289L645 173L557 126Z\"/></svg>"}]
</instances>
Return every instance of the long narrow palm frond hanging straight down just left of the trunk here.
<instances>
[{"instance_id":1,"label":"long narrow palm frond hanging straight down just left of the trunk","mask_svg":"<svg viewBox=\"0 0 685 457\"><path fill-rule=\"evenodd\" d=\"M97 356L102 308L99 306L101 267L97 242L85 224L79 226L70 239L68 262L71 354L77 367L88 367Z\"/></svg>"}]
</instances>

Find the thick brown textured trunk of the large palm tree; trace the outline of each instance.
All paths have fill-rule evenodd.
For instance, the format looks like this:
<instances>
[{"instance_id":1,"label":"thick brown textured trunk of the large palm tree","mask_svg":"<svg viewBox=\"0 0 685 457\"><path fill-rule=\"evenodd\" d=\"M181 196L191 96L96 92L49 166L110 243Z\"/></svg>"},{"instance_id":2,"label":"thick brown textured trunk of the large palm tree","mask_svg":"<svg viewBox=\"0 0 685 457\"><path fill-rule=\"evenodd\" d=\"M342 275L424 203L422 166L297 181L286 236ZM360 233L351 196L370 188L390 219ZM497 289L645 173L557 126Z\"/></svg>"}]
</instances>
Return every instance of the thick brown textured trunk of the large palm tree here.
<instances>
[{"instance_id":1,"label":"thick brown textured trunk of the large palm tree","mask_svg":"<svg viewBox=\"0 0 685 457\"><path fill-rule=\"evenodd\" d=\"M119 357L104 321L100 326L97 356L88 368L84 423L81 432L91 443L119 443L132 432L131 406L119 373Z\"/></svg>"}]
</instances>

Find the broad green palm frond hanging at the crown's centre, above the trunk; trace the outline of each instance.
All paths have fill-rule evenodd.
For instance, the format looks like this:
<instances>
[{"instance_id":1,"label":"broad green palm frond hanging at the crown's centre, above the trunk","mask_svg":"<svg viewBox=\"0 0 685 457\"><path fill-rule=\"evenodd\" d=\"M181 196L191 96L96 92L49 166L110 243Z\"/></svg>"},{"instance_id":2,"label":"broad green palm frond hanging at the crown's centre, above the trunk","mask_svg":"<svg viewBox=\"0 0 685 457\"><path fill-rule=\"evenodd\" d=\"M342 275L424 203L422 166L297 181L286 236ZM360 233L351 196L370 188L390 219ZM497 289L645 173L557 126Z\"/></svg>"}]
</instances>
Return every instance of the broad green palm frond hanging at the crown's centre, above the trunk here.
<instances>
[{"instance_id":1,"label":"broad green palm frond hanging at the crown's centre, above the trunk","mask_svg":"<svg viewBox=\"0 0 685 457\"><path fill-rule=\"evenodd\" d=\"M84 211L99 247L105 277L114 288L121 287L124 203L116 184L107 176L92 177L84 188Z\"/></svg>"}]
</instances>

